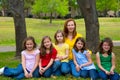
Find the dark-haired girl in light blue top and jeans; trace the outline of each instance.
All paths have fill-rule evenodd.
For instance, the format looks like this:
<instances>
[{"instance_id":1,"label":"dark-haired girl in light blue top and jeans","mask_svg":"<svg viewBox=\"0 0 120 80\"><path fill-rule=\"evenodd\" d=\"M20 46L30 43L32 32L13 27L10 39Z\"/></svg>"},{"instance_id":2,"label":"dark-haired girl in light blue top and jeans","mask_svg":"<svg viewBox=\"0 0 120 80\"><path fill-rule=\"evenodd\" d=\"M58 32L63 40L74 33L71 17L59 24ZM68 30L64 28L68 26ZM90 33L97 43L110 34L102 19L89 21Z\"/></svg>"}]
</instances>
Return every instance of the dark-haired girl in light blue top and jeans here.
<instances>
[{"instance_id":1,"label":"dark-haired girl in light blue top and jeans","mask_svg":"<svg viewBox=\"0 0 120 80\"><path fill-rule=\"evenodd\" d=\"M92 62L91 55L86 49L85 40L78 37L75 41L73 52L74 67L72 74L75 77L87 78L90 76L92 80L97 79L97 71Z\"/></svg>"}]
</instances>

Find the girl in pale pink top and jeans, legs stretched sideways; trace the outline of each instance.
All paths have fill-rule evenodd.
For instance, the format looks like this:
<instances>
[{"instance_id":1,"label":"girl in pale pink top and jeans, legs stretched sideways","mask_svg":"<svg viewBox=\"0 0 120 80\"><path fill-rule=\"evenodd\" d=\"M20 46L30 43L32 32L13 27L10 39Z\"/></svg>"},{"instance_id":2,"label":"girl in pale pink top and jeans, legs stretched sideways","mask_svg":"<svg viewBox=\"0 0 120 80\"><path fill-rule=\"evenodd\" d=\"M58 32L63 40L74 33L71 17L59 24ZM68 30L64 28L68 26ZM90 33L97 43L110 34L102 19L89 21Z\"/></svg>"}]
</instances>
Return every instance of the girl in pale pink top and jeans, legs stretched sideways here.
<instances>
[{"instance_id":1,"label":"girl in pale pink top and jeans, legs stretched sideways","mask_svg":"<svg viewBox=\"0 0 120 80\"><path fill-rule=\"evenodd\" d=\"M27 37L23 42L23 51L21 52L21 64L17 68L3 67L0 69L0 73L4 76L22 79L39 77L39 53L36 49L36 43L33 37Z\"/></svg>"}]
</instances>

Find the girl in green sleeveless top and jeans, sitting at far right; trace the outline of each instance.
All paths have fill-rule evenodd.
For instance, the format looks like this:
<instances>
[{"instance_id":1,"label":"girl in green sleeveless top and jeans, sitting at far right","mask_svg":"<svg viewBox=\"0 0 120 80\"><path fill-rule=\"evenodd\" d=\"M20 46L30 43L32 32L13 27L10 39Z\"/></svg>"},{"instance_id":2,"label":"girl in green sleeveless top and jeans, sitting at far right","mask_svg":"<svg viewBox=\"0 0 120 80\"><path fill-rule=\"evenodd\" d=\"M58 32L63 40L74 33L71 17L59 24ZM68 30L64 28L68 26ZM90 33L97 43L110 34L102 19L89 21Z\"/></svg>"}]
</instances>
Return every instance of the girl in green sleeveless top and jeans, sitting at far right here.
<instances>
[{"instance_id":1,"label":"girl in green sleeveless top and jeans, sitting at far right","mask_svg":"<svg viewBox=\"0 0 120 80\"><path fill-rule=\"evenodd\" d=\"M113 42L110 38L105 38L99 45L99 52L96 53L98 73L102 80L119 80L119 75L115 69L115 54L112 52Z\"/></svg>"}]
</instances>

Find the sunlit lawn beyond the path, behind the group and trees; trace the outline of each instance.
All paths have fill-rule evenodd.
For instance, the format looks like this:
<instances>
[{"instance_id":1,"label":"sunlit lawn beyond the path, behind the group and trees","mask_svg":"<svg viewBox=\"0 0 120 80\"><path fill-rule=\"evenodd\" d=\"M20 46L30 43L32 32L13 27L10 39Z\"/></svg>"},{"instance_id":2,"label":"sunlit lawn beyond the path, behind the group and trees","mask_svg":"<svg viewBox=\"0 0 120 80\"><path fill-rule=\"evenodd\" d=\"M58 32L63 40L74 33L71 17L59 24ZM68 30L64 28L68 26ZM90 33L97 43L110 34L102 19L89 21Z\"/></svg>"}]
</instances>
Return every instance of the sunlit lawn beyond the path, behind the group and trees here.
<instances>
[{"instance_id":1,"label":"sunlit lawn beyond the path, behind the group and trees","mask_svg":"<svg viewBox=\"0 0 120 80\"><path fill-rule=\"evenodd\" d=\"M29 19L26 18L26 28L28 36L35 37L39 44L45 35L53 39L53 35L58 29L63 29L65 20L54 19L49 23L49 19ZM76 19L77 31L85 37L85 24L83 19ZM100 39L111 37L113 40L120 40L120 18L99 18ZM13 18L0 17L0 45L15 45L15 29Z\"/></svg>"}]
</instances>

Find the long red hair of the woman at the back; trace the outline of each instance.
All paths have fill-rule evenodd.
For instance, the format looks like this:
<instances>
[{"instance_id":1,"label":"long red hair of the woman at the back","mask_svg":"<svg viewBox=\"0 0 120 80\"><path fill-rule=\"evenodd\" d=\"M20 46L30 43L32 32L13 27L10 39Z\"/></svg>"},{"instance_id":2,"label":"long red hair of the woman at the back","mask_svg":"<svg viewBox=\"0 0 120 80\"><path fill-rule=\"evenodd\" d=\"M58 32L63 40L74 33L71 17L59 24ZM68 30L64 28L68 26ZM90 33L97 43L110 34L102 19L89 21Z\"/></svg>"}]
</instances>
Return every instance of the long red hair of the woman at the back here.
<instances>
[{"instance_id":1,"label":"long red hair of the woman at the back","mask_svg":"<svg viewBox=\"0 0 120 80\"><path fill-rule=\"evenodd\" d=\"M65 37L67 37L68 36L68 28L67 28L67 25L68 25L68 22L70 22L70 21L73 21L74 22L74 26L75 26L75 29L74 29L74 31L73 31L73 38L75 38L75 36L76 36L76 34L77 34L77 31L76 31L76 22L75 22L75 20L73 20L73 19L67 19L66 20L66 22L64 23L64 29L63 29L63 31L64 31L64 34L65 34Z\"/></svg>"}]
</instances>

